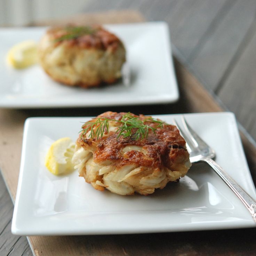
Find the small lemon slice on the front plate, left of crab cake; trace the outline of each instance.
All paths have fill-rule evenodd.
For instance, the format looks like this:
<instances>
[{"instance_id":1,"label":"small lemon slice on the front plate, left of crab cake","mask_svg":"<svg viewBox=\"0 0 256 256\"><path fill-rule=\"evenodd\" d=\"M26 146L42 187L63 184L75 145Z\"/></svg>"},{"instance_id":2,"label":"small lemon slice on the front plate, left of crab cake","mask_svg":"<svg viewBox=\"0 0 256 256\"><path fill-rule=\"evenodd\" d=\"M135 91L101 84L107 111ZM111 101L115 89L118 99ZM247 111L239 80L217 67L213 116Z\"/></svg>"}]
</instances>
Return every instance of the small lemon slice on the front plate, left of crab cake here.
<instances>
[{"instance_id":1,"label":"small lemon slice on the front plate, left of crab cake","mask_svg":"<svg viewBox=\"0 0 256 256\"><path fill-rule=\"evenodd\" d=\"M71 159L74 154L75 144L71 138L58 139L51 144L45 158L45 166L55 175L70 173L74 170Z\"/></svg>"}]
</instances>

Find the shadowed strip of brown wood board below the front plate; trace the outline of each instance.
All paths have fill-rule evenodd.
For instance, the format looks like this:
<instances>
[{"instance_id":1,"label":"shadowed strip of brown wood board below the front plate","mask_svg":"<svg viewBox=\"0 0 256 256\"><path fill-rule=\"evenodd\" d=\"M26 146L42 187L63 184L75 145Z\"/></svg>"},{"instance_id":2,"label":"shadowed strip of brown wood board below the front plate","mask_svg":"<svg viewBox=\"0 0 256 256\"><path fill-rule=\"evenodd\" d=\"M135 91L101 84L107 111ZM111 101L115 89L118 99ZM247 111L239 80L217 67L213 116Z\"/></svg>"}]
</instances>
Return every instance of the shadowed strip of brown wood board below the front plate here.
<instances>
[{"instance_id":1,"label":"shadowed strip of brown wood board below the front plate","mask_svg":"<svg viewBox=\"0 0 256 256\"><path fill-rule=\"evenodd\" d=\"M233 232L230 235L230 232ZM241 233L243 232L243 235ZM159 234L41 237L37 256L249 256L253 255L254 229ZM71 245L67 249L66 245ZM248 248L244 251L245 247ZM43 248L43 249L42 249ZM46 250L47 249L47 250ZM52 251L48 253L49 251ZM46 254L46 252L48 254ZM206 253L207 252L207 253Z\"/></svg>"}]
</instances>

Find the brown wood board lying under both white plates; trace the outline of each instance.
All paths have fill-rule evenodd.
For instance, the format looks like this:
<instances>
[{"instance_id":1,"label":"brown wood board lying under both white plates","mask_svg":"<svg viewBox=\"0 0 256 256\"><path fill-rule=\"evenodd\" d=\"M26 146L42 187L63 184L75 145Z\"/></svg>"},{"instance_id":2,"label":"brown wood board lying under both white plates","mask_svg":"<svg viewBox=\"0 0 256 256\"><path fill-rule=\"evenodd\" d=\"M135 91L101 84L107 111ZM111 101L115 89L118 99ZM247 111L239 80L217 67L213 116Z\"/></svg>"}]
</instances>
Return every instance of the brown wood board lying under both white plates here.
<instances>
[{"instance_id":1,"label":"brown wood board lying under both white plates","mask_svg":"<svg viewBox=\"0 0 256 256\"><path fill-rule=\"evenodd\" d=\"M130 14L129 14L130 12ZM115 19L112 19L109 13L104 16L94 14L87 17L97 17L97 23L115 23L117 22L140 22L143 17L137 12L125 11L115 12ZM86 15L82 15L86 17ZM81 17L82 17L81 16ZM69 19L69 22L74 20ZM65 20L64 22L67 22ZM86 23L86 18L85 18ZM45 25L46 23L44 23ZM50 24L50 23L48 23ZM145 114L171 114L171 113L187 113L187 112L217 112L223 111L222 107L217 103L214 96L208 91L175 59L175 69L177 80L181 93L181 98L175 104L163 104L155 106L119 106L111 108L112 111L131 111ZM0 110L0 169L9 189L11 197L15 199L18 182L19 165L21 158L23 125L27 117L31 116L87 116L96 115L110 108L86 108L86 109L50 109L50 110ZM247 137L241 132L243 146L247 154L250 170L255 182L256 174L256 149ZM226 233L225 233L226 232ZM234 231L238 232L238 231ZM252 231L250 231L252 233ZM189 237L186 232L186 237ZM162 234L134 234L134 235L99 235L99 236L35 236L29 237L29 241L35 255L168 255L170 253L169 241L175 238L173 255L181 255L190 253L190 255L199 255L204 249L211 252L216 251L211 244L200 244L200 232L195 233L198 240L182 241L182 234L162 233ZM204 232L204 234L206 234ZM214 237L214 233L207 232L208 237ZM227 231L221 233L223 236ZM253 237L253 236L252 236ZM230 255L232 251L237 249L233 246L233 241L227 241L223 245L224 249L229 249ZM253 240L250 248L256 249ZM232 243L232 246L230 246ZM184 246L185 245L185 246ZM201 247L200 247L201 245ZM196 247L196 248L191 248ZM228 247L227 247L228 246ZM245 247L245 246L244 246ZM201 249L200 249L201 248ZM194 250L194 251L193 251ZM239 249L238 249L239 250ZM191 254L192 253L192 254ZM219 254L221 255L221 254ZM249 255L249 254L247 254Z\"/></svg>"}]
</instances>

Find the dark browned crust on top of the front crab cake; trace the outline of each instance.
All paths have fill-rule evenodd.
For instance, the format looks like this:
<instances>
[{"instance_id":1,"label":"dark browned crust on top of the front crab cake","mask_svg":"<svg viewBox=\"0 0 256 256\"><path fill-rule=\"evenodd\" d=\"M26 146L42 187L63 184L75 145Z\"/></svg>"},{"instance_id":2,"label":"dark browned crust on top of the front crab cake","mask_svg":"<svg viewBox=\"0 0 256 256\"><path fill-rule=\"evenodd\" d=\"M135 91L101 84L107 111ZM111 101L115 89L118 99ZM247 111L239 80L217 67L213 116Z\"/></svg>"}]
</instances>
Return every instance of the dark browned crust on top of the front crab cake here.
<instances>
[{"instance_id":1,"label":"dark browned crust on top of the front crab cake","mask_svg":"<svg viewBox=\"0 0 256 256\"><path fill-rule=\"evenodd\" d=\"M105 112L92 119L90 122L95 122L98 118L108 118L121 120L126 113ZM131 114L134 117L144 120L148 116ZM145 122L151 127L157 127L155 122ZM135 131L134 131L135 132ZM105 131L107 133L107 131ZM178 158L189 158L186 150L186 142L179 134L176 126L163 124L162 128L157 128L155 134L153 131L149 132L147 138L142 140L134 140L120 136L114 131L110 131L107 137L86 138L85 135L79 136L77 143L85 150L94 148L94 161L102 162L111 160L113 165L119 167L126 164L138 164L145 167L162 168L167 167L171 169L174 161ZM121 154L121 150L128 145L141 146L146 149L147 155L142 152L131 150L125 154Z\"/></svg>"}]
</instances>

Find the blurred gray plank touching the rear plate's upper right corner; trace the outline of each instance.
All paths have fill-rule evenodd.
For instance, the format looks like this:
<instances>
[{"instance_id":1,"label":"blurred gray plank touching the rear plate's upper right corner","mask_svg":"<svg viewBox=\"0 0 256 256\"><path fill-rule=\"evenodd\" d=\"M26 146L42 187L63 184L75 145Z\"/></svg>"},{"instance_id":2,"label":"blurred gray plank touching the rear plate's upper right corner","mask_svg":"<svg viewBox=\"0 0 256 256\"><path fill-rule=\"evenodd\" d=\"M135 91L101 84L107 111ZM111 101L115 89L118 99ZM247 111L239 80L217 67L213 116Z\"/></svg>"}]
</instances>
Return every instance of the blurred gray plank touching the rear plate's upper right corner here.
<instances>
[{"instance_id":1,"label":"blurred gray plank touching the rear plate's upper right corner","mask_svg":"<svg viewBox=\"0 0 256 256\"><path fill-rule=\"evenodd\" d=\"M223 8L229 8L230 1L184 1L173 9L165 20L170 26L172 43L182 52L186 59L198 49L200 42L208 36L215 18ZM146 17L149 19L150 17ZM158 18L161 18L159 15ZM220 17L221 18L221 17Z\"/></svg>"}]
</instances>

